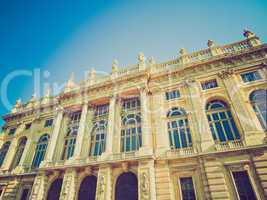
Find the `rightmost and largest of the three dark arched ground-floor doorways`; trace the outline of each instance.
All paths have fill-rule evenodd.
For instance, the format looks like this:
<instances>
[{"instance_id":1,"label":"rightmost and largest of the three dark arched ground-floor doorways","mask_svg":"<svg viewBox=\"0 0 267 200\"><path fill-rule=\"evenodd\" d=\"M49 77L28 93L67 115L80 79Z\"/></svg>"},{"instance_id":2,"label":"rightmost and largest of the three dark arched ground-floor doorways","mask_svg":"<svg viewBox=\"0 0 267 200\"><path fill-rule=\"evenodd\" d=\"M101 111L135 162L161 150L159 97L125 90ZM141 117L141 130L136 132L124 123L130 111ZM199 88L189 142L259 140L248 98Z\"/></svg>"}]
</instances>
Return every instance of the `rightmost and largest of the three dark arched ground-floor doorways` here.
<instances>
[{"instance_id":1,"label":"rightmost and largest of the three dark arched ground-floor doorways","mask_svg":"<svg viewBox=\"0 0 267 200\"><path fill-rule=\"evenodd\" d=\"M115 200L138 200L137 177L132 172L121 174L116 182Z\"/></svg>"}]
</instances>

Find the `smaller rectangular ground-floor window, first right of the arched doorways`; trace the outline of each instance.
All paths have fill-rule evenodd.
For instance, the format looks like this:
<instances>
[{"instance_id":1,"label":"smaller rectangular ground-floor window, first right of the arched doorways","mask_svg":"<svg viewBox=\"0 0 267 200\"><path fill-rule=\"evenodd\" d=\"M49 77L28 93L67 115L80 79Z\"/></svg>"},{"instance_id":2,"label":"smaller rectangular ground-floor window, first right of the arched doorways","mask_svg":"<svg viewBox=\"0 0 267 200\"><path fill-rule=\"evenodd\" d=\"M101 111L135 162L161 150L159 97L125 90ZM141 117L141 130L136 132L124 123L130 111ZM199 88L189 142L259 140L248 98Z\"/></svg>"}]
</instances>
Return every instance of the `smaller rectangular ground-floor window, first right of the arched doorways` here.
<instances>
[{"instance_id":1,"label":"smaller rectangular ground-floor window, first right of the arched doorways","mask_svg":"<svg viewBox=\"0 0 267 200\"><path fill-rule=\"evenodd\" d=\"M183 200L195 200L195 189L192 177L180 178L181 195Z\"/></svg>"}]
</instances>

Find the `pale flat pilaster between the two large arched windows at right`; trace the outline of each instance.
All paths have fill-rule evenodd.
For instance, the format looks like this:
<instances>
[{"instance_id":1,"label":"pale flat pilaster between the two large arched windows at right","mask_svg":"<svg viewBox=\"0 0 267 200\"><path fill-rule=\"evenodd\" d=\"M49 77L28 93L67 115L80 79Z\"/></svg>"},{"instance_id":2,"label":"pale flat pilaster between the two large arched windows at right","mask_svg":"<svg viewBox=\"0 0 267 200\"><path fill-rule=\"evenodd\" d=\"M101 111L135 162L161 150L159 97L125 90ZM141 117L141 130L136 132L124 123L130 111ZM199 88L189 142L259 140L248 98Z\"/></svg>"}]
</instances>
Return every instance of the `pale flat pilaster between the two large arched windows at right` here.
<instances>
[{"instance_id":1,"label":"pale flat pilaster between the two large arched windows at right","mask_svg":"<svg viewBox=\"0 0 267 200\"><path fill-rule=\"evenodd\" d=\"M205 113L205 103L201 97L200 88L194 80L187 80L184 84L188 89L187 99L191 107L191 111L189 112L191 112L195 119L192 121L192 126L195 127L195 130L197 130L200 135L200 141L197 141L196 146L202 151L209 150L210 148L213 148L214 140Z\"/></svg>"}]
</instances>

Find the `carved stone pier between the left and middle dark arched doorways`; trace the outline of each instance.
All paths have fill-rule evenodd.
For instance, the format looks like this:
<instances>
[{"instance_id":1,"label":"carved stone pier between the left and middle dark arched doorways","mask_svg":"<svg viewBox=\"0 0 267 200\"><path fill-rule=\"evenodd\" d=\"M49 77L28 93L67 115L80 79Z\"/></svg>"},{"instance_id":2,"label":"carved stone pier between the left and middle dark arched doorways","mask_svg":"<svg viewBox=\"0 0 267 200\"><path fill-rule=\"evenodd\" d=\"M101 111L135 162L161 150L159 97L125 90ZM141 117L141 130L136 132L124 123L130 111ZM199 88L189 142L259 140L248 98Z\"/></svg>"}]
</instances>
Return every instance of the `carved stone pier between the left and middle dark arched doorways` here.
<instances>
[{"instance_id":1,"label":"carved stone pier between the left and middle dark arched doorways","mask_svg":"<svg viewBox=\"0 0 267 200\"><path fill-rule=\"evenodd\" d=\"M77 193L77 172L73 168L65 171L60 192L60 200L75 200Z\"/></svg>"}]
</instances>

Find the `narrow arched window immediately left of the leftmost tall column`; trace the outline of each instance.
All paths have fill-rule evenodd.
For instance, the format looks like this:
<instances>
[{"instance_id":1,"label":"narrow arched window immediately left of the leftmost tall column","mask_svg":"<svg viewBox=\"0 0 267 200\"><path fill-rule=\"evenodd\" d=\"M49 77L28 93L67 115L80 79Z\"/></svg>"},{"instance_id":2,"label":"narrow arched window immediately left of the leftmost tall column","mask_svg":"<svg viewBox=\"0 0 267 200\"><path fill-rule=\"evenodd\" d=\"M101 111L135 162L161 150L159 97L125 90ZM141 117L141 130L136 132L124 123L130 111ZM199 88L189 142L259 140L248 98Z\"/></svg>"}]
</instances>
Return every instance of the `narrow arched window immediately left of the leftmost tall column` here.
<instances>
[{"instance_id":1,"label":"narrow arched window immediately left of the leftmost tall column","mask_svg":"<svg viewBox=\"0 0 267 200\"><path fill-rule=\"evenodd\" d=\"M44 160L47 144L49 140L49 135L44 134L40 137L36 149L35 154L32 162L32 168L39 167L40 163Z\"/></svg>"}]
</instances>

